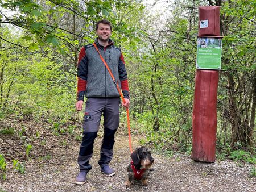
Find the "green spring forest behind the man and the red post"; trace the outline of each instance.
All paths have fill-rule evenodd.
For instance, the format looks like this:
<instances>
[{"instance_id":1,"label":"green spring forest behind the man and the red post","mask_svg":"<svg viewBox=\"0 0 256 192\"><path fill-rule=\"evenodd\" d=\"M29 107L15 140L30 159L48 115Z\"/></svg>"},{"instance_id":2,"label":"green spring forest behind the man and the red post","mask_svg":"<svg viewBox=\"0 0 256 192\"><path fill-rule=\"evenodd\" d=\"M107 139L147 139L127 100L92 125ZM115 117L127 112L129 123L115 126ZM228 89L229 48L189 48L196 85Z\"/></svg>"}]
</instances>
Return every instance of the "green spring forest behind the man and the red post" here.
<instances>
[{"instance_id":1,"label":"green spring forest behind the man and the red post","mask_svg":"<svg viewBox=\"0 0 256 192\"><path fill-rule=\"evenodd\" d=\"M214 5L224 36L216 155L255 164L255 0L0 0L0 119L46 121L57 134L72 133L76 126L63 125L82 120L78 54L106 18L125 56L132 133L145 135L141 144L190 154L198 7ZM24 131L1 127L0 135Z\"/></svg>"}]
</instances>

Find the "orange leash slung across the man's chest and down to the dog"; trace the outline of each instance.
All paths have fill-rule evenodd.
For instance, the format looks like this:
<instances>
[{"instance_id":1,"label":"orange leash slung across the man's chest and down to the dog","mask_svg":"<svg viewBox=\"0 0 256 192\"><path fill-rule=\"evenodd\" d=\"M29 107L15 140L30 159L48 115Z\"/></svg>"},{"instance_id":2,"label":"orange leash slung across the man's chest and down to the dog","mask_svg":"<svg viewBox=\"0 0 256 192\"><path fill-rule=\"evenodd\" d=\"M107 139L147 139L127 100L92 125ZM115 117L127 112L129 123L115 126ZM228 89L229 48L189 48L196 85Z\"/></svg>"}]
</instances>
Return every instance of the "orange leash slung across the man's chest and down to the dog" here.
<instances>
[{"instance_id":1,"label":"orange leash slung across the man's chest and down to the dog","mask_svg":"<svg viewBox=\"0 0 256 192\"><path fill-rule=\"evenodd\" d=\"M121 90L120 90L120 88L119 88L118 82L115 81L115 78L114 78L114 76L113 76L111 70L109 69L108 64L106 63L106 61L104 60L104 58L101 56L100 51L98 51L97 45L96 45L95 43L93 43L93 45L94 45L94 47L96 48L98 54L100 55L102 62L104 63L104 65L105 65L106 68L108 69L109 74L110 74L110 76L112 77L112 80L114 81L114 84L117 85L117 90L118 90L118 92L119 92L119 94L120 94L120 96L121 96L121 98L122 98L123 103L125 103L125 98L123 98L123 94L122 94L122 92L121 92ZM133 148L131 147L131 128L130 128L129 108L127 108L127 107L126 107L126 114L127 114L127 126L128 126L129 148L130 148L130 152L133 153Z\"/></svg>"}]
</instances>

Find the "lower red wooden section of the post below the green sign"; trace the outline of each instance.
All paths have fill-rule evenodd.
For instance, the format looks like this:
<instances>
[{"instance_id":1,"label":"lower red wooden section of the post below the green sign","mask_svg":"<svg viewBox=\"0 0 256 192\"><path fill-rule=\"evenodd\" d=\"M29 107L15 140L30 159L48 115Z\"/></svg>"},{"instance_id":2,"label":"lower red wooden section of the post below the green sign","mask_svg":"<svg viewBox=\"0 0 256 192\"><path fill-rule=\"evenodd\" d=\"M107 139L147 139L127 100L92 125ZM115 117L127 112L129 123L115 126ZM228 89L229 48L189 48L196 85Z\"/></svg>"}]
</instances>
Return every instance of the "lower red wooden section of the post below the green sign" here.
<instances>
[{"instance_id":1,"label":"lower red wooden section of the post below the green sign","mask_svg":"<svg viewBox=\"0 0 256 192\"><path fill-rule=\"evenodd\" d=\"M218 70L196 70L192 159L215 162Z\"/></svg>"}]
</instances>

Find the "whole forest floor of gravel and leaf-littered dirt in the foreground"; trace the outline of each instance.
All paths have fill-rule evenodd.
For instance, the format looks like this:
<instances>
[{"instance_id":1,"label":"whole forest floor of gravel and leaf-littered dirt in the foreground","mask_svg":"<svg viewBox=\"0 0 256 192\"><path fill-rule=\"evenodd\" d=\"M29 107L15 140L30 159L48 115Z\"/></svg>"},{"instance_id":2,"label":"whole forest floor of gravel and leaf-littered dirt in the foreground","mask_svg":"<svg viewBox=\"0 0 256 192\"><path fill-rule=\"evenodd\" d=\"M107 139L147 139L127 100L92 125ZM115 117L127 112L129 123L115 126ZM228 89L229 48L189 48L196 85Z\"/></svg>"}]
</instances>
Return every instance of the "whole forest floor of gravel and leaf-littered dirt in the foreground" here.
<instances>
[{"instance_id":1,"label":"whole forest floor of gravel and leaf-littered dirt in the foreground","mask_svg":"<svg viewBox=\"0 0 256 192\"><path fill-rule=\"evenodd\" d=\"M68 134L53 134L49 124L0 122L0 130L7 127L14 127L16 133L0 135L0 153L5 155L8 168L6 180L0 180L0 191L256 191L256 178L251 178L249 174L255 165L232 161L205 164L194 162L186 155L167 156L154 149L151 149L151 153L155 159L155 170L150 172L148 186L136 181L129 189L125 189L130 151L128 137L122 128L117 132L114 157L110 163L116 170L115 176L106 177L100 173L97 161L102 132L99 132L91 160L93 168L88 173L86 183L78 186L74 183L79 173L78 139ZM22 127L26 127L26 131L20 139L17 132ZM139 146L141 137L133 135L134 149ZM24 155L24 143L33 146L28 157ZM12 168L13 159L24 160L24 174Z\"/></svg>"}]
</instances>

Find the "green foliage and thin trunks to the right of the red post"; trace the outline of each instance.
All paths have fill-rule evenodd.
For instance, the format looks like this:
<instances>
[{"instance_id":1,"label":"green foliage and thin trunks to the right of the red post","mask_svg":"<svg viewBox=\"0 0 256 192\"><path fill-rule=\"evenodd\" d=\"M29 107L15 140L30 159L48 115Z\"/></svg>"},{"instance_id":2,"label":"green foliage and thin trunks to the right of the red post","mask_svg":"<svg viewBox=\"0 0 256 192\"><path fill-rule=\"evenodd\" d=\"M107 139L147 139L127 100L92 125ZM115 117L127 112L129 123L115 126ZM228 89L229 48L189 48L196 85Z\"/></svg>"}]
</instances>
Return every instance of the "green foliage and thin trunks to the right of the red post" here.
<instances>
[{"instance_id":1,"label":"green foliage and thin trunks to the right of the red post","mask_svg":"<svg viewBox=\"0 0 256 192\"><path fill-rule=\"evenodd\" d=\"M251 99L255 95L255 8L255 1L225 1L221 7L225 27L218 111L221 124L225 124L221 139L231 142L232 147L236 141L243 147L255 145L255 137L247 131L247 126L255 127L255 102ZM230 115L236 116L236 120L232 121L234 116ZM236 121L240 123L236 125Z\"/></svg>"}]
</instances>

